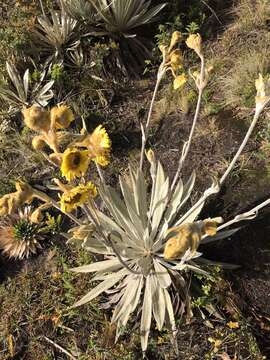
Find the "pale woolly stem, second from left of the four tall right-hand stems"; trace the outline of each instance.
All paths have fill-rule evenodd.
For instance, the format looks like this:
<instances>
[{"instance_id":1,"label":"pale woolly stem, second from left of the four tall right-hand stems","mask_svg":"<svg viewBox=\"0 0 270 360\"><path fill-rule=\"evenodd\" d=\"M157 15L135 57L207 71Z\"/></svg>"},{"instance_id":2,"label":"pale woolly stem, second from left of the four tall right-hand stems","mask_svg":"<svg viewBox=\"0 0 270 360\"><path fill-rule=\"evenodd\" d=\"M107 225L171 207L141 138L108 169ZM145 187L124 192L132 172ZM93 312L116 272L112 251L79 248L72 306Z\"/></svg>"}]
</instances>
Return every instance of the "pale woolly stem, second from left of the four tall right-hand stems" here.
<instances>
[{"instance_id":1,"label":"pale woolly stem, second from left of the four tall right-hand stems","mask_svg":"<svg viewBox=\"0 0 270 360\"><path fill-rule=\"evenodd\" d=\"M201 102L202 102L202 94L203 94L203 89L204 89L203 83L204 83L204 68L205 68L205 61L204 61L203 55L200 57L200 59L201 59L200 87L199 87L199 94L198 94L196 111L195 111L195 115L194 115L194 118L193 118L192 127L191 127L191 130L190 130L190 133L189 133L188 141L187 141L187 143L185 145L185 148L184 148L184 151L183 151L183 153L182 153L182 155L181 155L181 157L179 159L178 168L177 168L176 174L174 176L174 179L173 179L173 182L172 182L172 185L171 185L171 191L173 191L173 189L174 189L174 187L175 187L175 185L177 183L177 180L178 180L178 178L180 176L180 173L182 171L184 162L185 162L185 160L187 158L187 155L189 153L192 138L193 138L194 131L195 131L195 127L196 127L197 120L198 120L199 113L200 113Z\"/></svg>"}]
</instances>

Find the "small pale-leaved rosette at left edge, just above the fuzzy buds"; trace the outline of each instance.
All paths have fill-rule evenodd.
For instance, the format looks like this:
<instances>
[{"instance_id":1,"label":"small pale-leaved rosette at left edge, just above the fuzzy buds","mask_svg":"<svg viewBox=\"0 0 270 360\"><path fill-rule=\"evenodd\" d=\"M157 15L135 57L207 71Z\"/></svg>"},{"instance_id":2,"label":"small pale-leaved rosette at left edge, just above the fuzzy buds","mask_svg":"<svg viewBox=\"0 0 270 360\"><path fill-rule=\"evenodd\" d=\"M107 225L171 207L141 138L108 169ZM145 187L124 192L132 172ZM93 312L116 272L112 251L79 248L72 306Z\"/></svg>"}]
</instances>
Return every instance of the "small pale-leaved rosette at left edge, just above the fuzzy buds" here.
<instances>
[{"instance_id":1,"label":"small pale-leaved rosette at left edge, just above the fuzzy buds","mask_svg":"<svg viewBox=\"0 0 270 360\"><path fill-rule=\"evenodd\" d=\"M29 69L21 77L15 65L7 62L6 67L12 85L1 86L0 97L9 104L11 112L33 103L41 106L48 105L49 100L53 97L51 88L54 81L44 84L46 71L43 71L39 81L33 84L30 81Z\"/></svg>"}]
</instances>

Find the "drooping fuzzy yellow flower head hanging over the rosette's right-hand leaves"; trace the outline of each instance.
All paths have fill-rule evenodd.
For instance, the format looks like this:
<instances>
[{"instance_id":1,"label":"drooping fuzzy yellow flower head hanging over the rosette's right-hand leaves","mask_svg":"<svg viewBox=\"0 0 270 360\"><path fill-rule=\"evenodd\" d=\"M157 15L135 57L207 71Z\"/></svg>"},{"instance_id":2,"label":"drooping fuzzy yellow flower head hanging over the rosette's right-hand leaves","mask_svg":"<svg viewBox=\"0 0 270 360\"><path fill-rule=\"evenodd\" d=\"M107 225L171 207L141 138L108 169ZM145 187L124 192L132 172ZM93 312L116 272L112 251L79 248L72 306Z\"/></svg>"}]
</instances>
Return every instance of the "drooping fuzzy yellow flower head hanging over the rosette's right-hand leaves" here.
<instances>
[{"instance_id":1,"label":"drooping fuzzy yellow flower head hanging over the rosette's right-hand leaves","mask_svg":"<svg viewBox=\"0 0 270 360\"><path fill-rule=\"evenodd\" d=\"M188 249L192 253L196 252L202 236L204 234L214 236L220 222L222 222L221 218L207 219L169 229L168 233L173 236L165 245L164 258L168 260L180 258Z\"/></svg>"}]
</instances>

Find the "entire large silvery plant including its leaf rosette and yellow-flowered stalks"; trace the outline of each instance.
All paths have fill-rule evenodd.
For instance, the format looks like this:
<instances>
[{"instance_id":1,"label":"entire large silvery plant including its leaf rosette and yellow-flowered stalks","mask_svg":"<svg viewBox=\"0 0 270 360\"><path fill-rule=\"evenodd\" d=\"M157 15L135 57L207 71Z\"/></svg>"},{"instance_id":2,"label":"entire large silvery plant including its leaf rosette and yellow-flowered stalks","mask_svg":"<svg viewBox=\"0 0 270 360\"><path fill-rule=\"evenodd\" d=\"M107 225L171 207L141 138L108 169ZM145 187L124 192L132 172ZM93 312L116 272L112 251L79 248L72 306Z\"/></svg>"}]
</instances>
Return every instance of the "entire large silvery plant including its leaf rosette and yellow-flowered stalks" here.
<instances>
[{"instance_id":1,"label":"entire large silvery plant including its leaf rosette and yellow-flowered stalks","mask_svg":"<svg viewBox=\"0 0 270 360\"><path fill-rule=\"evenodd\" d=\"M167 323L173 336L176 336L176 310L173 308L175 297L178 298L181 314L186 312L188 318L192 315L187 285L189 274L195 272L211 277L206 265L209 266L212 262L201 256L199 246L231 236L238 228L228 230L228 227L253 218L260 209L270 203L268 199L224 224L221 217L199 218L207 199L219 193L221 185L234 168L261 113L270 101L269 78L260 74L255 82L255 115L238 151L223 176L213 179L212 185L195 204L188 209L184 208L195 185L195 172L193 171L187 183L183 184L182 167L192 147L203 92L212 71L211 67L205 65L199 34L192 34L186 40L187 47L194 51L201 63L200 71L190 71L198 92L190 134L171 183L154 152L151 149L146 152L151 183L148 196L147 173L143 165L153 105L160 83L167 72L173 75L173 87L176 91L180 91L187 82L187 74L183 70L183 56L178 49L181 41L182 34L176 31L169 44L160 46L162 63L158 69L146 125L141 125L140 163L135 168L130 164L129 175L125 180L119 179L122 196L106 184L101 169L101 166L107 166L110 161L111 141L106 130L100 125L90 134L84 124L80 134L74 134L73 139L63 149L63 131L74 121L71 109L66 105L58 105L47 111L33 105L23 110L24 122L38 133L32 141L34 149L59 167L66 180L62 182L54 179L57 190L61 193L60 200L54 200L50 195L22 182L16 184L16 192L0 199L2 216L13 215L25 203L38 199L43 203L35 210L38 217L44 207L55 207L75 223L76 226L71 227L66 234L67 238L70 241L79 241L85 249L104 257L102 261L94 261L90 265L73 269L80 273L95 273L92 281L100 281L75 307L88 303L104 292L109 293L106 307L114 307L112 323L117 326L116 339L126 327L131 314L140 307L143 352L148 347L152 317L158 330L161 331ZM91 161L96 164L100 177L97 187L85 179ZM95 201L98 194L108 212L101 209ZM78 209L81 209L82 213L76 215L74 211Z\"/></svg>"}]
</instances>

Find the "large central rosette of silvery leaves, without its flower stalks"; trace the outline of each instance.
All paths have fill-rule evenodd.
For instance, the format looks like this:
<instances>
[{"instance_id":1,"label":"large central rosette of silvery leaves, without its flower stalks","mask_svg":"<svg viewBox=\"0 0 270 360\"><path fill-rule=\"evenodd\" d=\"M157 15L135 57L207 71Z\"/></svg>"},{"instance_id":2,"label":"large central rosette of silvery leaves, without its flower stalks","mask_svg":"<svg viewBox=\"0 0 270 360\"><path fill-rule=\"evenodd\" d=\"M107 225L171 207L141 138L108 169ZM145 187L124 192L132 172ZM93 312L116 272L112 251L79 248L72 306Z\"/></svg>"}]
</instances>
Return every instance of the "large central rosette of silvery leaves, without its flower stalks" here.
<instances>
[{"instance_id":1,"label":"large central rosette of silvery leaves, without its flower stalks","mask_svg":"<svg viewBox=\"0 0 270 360\"><path fill-rule=\"evenodd\" d=\"M181 309L190 309L185 272L203 270L203 259L198 252L188 250L181 260L166 260L163 256L168 229L193 223L212 194L219 191L217 182L206 190L198 202L183 212L195 184L195 173L183 184L180 180L170 193L169 178L159 161L152 157L150 166L152 188L148 197L147 183L140 169L129 169L129 177L120 177L121 193L102 185L100 196L108 215L98 209L92 210L99 219L99 229L93 225L83 226L85 249L102 254L103 261L72 269L79 273L95 273L92 282L100 283L74 306L88 303L102 293L109 298L107 305L114 307L112 323L117 324L116 339L126 326L132 313L141 309L141 345L145 351L152 318L161 330L166 324L175 334L175 315L172 289L177 288L182 302ZM94 215L93 215L94 216ZM75 229L79 231L79 229ZM113 248L104 242L108 236ZM221 231L202 241L213 241L232 235L235 230ZM74 233L74 229L73 229ZM71 240L75 240L71 238ZM115 250L123 262L116 256ZM209 264L209 261L207 261Z\"/></svg>"}]
</instances>

